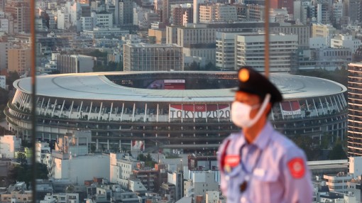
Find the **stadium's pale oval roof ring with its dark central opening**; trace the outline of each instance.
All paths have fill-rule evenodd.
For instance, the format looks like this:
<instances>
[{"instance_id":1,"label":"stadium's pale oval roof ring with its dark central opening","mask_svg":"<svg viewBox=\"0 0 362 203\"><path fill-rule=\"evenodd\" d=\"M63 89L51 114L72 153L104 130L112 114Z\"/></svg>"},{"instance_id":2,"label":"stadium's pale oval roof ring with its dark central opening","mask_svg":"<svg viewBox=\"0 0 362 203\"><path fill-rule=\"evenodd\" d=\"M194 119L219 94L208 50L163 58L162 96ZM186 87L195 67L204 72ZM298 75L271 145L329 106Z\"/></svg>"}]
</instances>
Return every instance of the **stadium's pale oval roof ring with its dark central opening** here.
<instances>
[{"instance_id":1,"label":"stadium's pale oval roof ring with its dark central opening","mask_svg":"<svg viewBox=\"0 0 362 203\"><path fill-rule=\"evenodd\" d=\"M140 82L146 83L145 79L185 79L185 82L190 82L186 85L191 88L147 89L146 84L144 87L139 84ZM283 93L284 99L321 97L346 92L346 87L343 85L317 77L270 74L270 79ZM116 82L112 82L113 80ZM204 84L204 87L192 89L196 84L203 85L198 80L218 82L219 85L212 84L216 87L208 88L209 86ZM122 85L122 81L128 83ZM131 87L130 82L138 82L138 88ZM188 101L232 101L234 92L230 90L236 86L235 72L94 72L37 77L36 93L46 97L68 99L185 101L187 98ZM31 78L17 80L14 82L14 87L30 93Z\"/></svg>"}]
</instances>

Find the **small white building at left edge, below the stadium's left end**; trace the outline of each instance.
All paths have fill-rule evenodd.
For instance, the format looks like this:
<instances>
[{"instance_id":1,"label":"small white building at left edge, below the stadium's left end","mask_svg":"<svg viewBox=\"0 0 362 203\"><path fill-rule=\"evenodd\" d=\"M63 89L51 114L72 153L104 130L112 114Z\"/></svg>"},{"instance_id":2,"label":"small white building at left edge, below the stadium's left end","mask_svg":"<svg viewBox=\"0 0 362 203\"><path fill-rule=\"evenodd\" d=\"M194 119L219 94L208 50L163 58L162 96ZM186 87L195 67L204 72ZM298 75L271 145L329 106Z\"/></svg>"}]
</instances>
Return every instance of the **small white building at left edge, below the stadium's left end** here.
<instances>
[{"instance_id":1,"label":"small white building at left edge, below the stadium's left end","mask_svg":"<svg viewBox=\"0 0 362 203\"><path fill-rule=\"evenodd\" d=\"M21 148L21 138L16 136L0 136L0 157L15 158L15 152Z\"/></svg>"}]
</instances>

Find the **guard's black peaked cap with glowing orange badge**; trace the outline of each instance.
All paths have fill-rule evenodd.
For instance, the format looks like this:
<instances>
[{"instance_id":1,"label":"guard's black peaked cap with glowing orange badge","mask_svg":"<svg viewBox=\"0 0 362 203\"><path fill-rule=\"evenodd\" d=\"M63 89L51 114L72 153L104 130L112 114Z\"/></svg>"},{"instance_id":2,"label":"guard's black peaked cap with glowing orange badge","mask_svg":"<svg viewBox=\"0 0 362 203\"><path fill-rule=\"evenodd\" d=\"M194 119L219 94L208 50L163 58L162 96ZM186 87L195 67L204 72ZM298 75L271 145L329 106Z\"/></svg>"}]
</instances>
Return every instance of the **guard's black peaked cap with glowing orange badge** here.
<instances>
[{"instance_id":1,"label":"guard's black peaked cap with glowing orange badge","mask_svg":"<svg viewBox=\"0 0 362 203\"><path fill-rule=\"evenodd\" d=\"M240 70L238 70L238 82L236 92L257 94L261 99L269 93L272 104L283 100L283 96L278 88L264 75L253 70L252 67L241 67Z\"/></svg>"}]
</instances>

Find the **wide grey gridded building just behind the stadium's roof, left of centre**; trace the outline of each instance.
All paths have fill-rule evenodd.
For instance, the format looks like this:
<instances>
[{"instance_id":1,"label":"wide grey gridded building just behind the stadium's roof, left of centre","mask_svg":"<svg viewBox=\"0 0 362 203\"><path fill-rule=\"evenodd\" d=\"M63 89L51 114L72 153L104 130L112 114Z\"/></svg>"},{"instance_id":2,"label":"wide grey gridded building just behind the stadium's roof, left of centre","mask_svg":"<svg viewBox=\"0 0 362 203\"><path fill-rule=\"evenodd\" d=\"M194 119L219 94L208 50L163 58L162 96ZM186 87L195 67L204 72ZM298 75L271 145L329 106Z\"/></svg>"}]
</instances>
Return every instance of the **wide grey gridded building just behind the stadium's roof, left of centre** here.
<instances>
[{"instance_id":1,"label":"wide grey gridded building just behind the stadium's roof, left of centre","mask_svg":"<svg viewBox=\"0 0 362 203\"><path fill-rule=\"evenodd\" d=\"M182 47L178 45L124 45L124 71L183 69Z\"/></svg>"}]
</instances>

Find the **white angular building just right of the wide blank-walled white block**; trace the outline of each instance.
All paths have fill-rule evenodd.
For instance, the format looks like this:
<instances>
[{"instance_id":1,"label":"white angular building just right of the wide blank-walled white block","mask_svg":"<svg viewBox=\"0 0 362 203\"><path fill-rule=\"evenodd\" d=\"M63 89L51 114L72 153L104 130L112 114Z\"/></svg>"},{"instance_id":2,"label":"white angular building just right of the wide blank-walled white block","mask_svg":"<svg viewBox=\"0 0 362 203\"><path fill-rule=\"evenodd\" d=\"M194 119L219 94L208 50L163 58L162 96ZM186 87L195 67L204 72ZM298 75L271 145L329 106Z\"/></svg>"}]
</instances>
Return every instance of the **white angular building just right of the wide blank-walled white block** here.
<instances>
[{"instance_id":1,"label":"white angular building just right of the wide blank-walled white block","mask_svg":"<svg viewBox=\"0 0 362 203\"><path fill-rule=\"evenodd\" d=\"M109 167L109 182L128 188L128 179L133 174L133 170L141 168L143 161L133 159L130 155L124 153L111 153Z\"/></svg>"}]
</instances>

